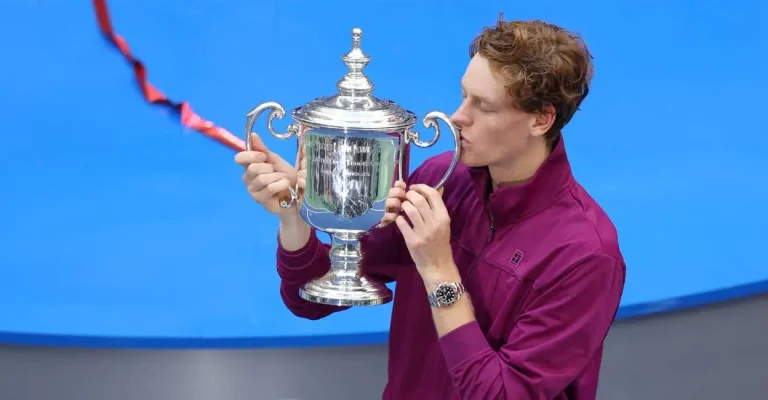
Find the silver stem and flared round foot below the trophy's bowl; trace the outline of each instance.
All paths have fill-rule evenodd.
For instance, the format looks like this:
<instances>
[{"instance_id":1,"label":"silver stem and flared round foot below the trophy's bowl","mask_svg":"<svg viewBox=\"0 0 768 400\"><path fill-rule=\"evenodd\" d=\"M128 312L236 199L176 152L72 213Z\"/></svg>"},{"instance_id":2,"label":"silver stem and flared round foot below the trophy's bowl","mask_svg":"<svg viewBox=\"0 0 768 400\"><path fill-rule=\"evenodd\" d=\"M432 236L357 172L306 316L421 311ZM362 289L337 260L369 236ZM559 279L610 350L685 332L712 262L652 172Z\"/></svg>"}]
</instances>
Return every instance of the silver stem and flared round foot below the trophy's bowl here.
<instances>
[{"instance_id":1,"label":"silver stem and flared round foot below the trophy's bowl","mask_svg":"<svg viewBox=\"0 0 768 400\"><path fill-rule=\"evenodd\" d=\"M339 231L331 239L331 270L300 291L303 299L334 306L375 306L392 300L392 291L368 278L362 270L363 232Z\"/></svg>"}]
</instances>

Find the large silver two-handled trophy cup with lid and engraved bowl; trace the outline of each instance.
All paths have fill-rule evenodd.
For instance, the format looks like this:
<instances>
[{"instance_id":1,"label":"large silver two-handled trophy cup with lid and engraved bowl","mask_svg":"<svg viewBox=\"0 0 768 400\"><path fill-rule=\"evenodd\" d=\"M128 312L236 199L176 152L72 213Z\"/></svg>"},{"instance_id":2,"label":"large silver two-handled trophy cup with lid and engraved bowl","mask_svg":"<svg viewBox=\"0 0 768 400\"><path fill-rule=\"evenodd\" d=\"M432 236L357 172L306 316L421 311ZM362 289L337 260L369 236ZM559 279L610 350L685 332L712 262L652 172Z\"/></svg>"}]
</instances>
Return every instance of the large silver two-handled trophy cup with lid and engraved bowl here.
<instances>
[{"instance_id":1,"label":"large silver two-handled trophy cup with lid and engraved bowl","mask_svg":"<svg viewBox=\"0 0 768 400\"><path fill-rule=\"evenodd\" d=\"M392 291L371 280L361 268L360 239L381 222L389 189L408 172L409 144L430 147L440 137L438 120L451 129L454 153L448 171L437 183L439 189L459 160L459 131L442 113L428 113L422 123L435 135L423 142L413 130L416 115L392 101L371 95L373 84L363 73L370 61L360 49L362 31L352 30L352 50L342 56L349 71L336 85L334 96L319 97L291 112L295 123L285 133L272 127L275 118L285 116L276 102L266 102L247 114L247 150L251 130L259 116L270 110L267 129L280 139L298 138L297 166L306 163L304 193L291 188L281 206L297 206L302 219L315 229L331 235L330 271L300 290L302 298L337 306L385 304Z\"/></svg>"}]
</instances>

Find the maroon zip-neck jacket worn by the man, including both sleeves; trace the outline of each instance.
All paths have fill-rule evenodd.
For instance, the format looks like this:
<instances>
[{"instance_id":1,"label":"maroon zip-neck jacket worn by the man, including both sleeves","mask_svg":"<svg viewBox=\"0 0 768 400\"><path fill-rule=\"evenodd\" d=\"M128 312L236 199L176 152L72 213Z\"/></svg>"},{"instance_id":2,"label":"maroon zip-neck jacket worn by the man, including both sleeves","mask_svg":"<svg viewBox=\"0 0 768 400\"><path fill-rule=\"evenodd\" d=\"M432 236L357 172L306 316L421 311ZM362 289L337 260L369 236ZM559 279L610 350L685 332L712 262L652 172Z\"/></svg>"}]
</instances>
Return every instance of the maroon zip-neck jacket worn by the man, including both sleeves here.
<instances>
[{"instance_id":1,"label":"maroon zip-neck jacket worn by the man, including both sleeves","mask_svg":"<svg viewBox=\"0 0 768 400\"><path fill-rule=\"evenodd\" d=\"M435 184L450 156L427 160L409 183ZM624 287L616 229L574 180L562 139L527 184L488 189L487 169L461 164L445 185L453 257L477 321L442 338L396 225L363 243L366 272L397 281L383 397L595 399ZM286 306L317 319L343 308L298 295L329 268L328 246L311 237L295 252L279 247L277 269Z\"/></svg>"}]
</instances>

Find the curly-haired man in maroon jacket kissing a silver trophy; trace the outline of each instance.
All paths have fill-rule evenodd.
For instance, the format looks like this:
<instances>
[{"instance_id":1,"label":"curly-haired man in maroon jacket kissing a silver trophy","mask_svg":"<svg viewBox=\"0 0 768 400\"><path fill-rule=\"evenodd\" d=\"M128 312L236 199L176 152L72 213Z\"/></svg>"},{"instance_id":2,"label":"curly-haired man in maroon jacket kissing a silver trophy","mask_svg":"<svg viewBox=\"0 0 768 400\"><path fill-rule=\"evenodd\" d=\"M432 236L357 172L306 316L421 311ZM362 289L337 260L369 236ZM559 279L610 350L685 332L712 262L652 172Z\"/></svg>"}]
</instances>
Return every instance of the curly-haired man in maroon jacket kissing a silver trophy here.
<instances>
[{"instance_id":1,"label":"curly-haired man in maroon jacket kissing a silver trophy","mask_svg":"<svg viewBox=\"0 0 768 400\"><path fill-rule=\"evenodd\" d=\"M397 281L383 397L595 399L625 265L561 136L588 93L591 56L557 26L501 19L470 56L452 117L461 163L440 193L430 185L450 154L417 168L363 243L366 271ZM280 217L285 305L309 319L342 311L298 295L329 268L328 246L275 197L304 185L305 171L273 153L236 160L252 196Z\"/></svg>"}]
</instances>

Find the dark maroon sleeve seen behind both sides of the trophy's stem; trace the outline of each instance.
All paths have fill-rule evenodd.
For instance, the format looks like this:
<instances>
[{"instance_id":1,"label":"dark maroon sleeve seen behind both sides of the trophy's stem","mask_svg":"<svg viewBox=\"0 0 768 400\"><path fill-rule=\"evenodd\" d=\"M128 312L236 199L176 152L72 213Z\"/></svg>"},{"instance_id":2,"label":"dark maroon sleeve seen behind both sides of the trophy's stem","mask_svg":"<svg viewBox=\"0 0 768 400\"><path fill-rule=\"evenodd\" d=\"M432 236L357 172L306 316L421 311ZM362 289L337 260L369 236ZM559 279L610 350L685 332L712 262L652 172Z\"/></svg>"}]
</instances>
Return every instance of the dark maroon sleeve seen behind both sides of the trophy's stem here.
<instances>
[{"instance_id":1,"label":"dark maroon sleeve seen behind both sides of the trophy's stem","mask_svg":"<svg viewBox=\"0 0 768 400\"><path fill-rule=\"evenodd\" d=\"M408 254L395 224L373 231L361 240L361 249L363 271L371 279L382 283L397 279L397 267L404 262L404 257ZM321 242L314 229L307 244L296 251L286 250L278 238L277 273L281 279L280 295L283 303L294 315L320 319L349 308L313 303L299 295L301 286L330 270L329 250L330 245Z\"/></svg>"}]
</instances>

